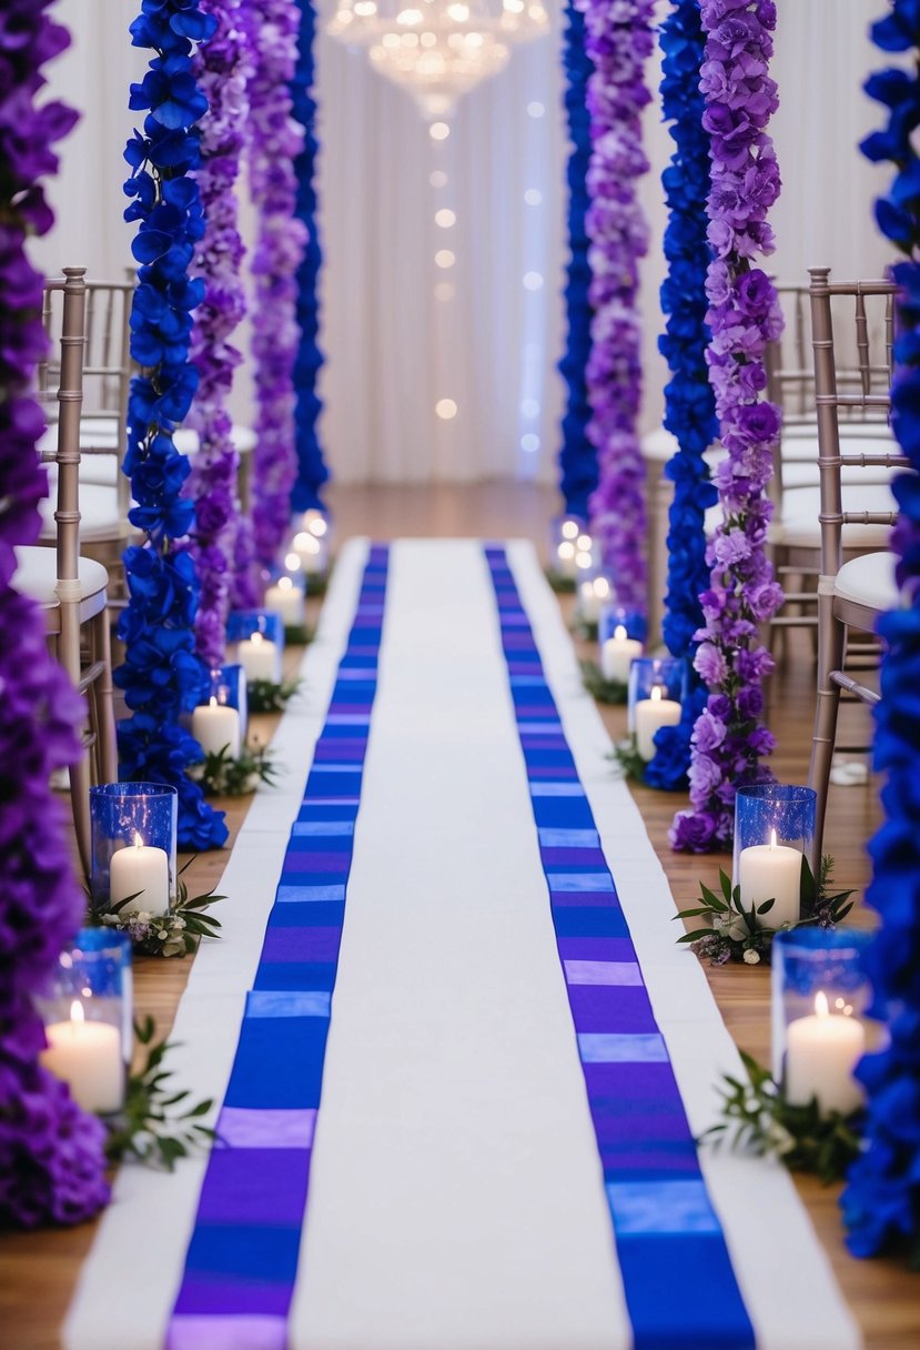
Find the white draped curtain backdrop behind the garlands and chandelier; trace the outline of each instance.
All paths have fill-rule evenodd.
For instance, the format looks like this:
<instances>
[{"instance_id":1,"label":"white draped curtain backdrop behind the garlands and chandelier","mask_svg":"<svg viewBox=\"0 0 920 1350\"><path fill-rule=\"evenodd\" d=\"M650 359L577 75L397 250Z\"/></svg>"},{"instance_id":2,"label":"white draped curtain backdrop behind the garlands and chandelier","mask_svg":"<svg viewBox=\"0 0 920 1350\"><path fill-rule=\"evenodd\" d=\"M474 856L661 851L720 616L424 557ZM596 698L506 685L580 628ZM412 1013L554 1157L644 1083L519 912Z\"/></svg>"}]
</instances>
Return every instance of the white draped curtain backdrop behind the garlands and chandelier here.
<instances>
[{"instance_id":1,"label":"white draped curtain backdrop behind the garlands and chandelier","mask_svg":"<svg viewBox=\"0 0 920 1350\"><path fill-rule=\"evenodd\" d=\"M440 142L363 54L325 35L317 42L321 439L339 482L556 479L568 151L561 0L549 7L552 36L517 50L505 73L461 100ZM882 119L861 86L885 63L866 35L884 7L782 0L778 8L781 107L772 131L784 189L772 217L772 270L784 284L807 279L816 265L839 277L878 274L890 250L871 200L890 173L866 163L857 144ZM138 9L135 0L59 0L54 8L74 42L50 68L50 92L84 117L61 147L62 171L50 192L55 228L34 246L46 271L86 265L90 275L120 277L131 263L121 148L135 120L127 88L144 68L146 54L127 32ZM657 85L657 62L649 78ZM642 185L652 228L642 279L643 429L661 416L666 378L657 292L660 173L670 144L653 104L653 167ZM442 208L455 213L453 224L436 223ZM244 220L251 232L246 211ZM449 261L445 251L453 262L438 266L438 255ZM243 332L244 348L247 340ZM235 414L247 421L248 371L237 374ZM442 400L456 404L447 420L436 412Z\"/></svg>"}]
</instances>

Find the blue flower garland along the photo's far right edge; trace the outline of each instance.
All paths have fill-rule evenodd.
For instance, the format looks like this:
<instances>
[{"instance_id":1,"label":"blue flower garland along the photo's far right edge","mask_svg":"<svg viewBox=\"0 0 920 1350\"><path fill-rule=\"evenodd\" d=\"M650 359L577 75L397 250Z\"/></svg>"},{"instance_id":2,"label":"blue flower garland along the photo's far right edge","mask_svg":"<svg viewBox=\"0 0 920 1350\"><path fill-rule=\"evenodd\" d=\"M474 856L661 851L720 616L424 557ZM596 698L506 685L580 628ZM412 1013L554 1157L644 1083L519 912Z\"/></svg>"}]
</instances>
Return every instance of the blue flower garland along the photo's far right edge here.
<instances>
[{"instance_id":1,"label":"blue flower garland along the photo's far right edge","mask_svg":"<svg viewBox=\"0 0 920 1350\"><path fill-rule=\"evenodd\" d=\"M908 262L893 269L902 288L893 429L904 454L920 470L920 158L913 134L920 126L920 0L893 0L873 26L882 51L912 53L911 69L881 70L866 93L889 109L888 127L862 144L874 161L890 159L897 173L888 197L875 202L878 225ZM875 713L875 768L885 824L869 850L874 864L867 902L881 917L869 953L874 1014L888 1021L888 1044L858 1068L867 1095L867 1149L854 1164L840 1204L854 1256L907 1249L920 1264L920 482L894 481L900 520L894 549L901 608L884 616L881 690Z\"/></svg>"}]
</instances>

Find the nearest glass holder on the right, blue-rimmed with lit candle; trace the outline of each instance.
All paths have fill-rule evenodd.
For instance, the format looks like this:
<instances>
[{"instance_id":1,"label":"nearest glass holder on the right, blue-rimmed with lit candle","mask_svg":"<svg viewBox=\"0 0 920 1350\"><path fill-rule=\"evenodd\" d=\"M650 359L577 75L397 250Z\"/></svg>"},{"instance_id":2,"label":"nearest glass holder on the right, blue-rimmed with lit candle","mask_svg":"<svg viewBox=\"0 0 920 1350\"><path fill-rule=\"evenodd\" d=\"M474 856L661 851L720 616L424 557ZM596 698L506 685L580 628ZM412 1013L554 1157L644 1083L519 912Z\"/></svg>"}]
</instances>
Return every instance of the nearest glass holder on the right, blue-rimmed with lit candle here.
<instances>
[{"instance_id":1,"label":"nearest glass holder on the right, blue-rimmed with lit candle","mask_svg":"<svg viewBox=\"0 0 920 1350\"><path fill-rule=\"evenodd\" d=\"M866 1049L870 940L844 927L800 927L773 938L773 1077L797 1106L817 1098L824 1114L846 1115L862 1104L853 1069Z\"/></svg>"}]
</instances>

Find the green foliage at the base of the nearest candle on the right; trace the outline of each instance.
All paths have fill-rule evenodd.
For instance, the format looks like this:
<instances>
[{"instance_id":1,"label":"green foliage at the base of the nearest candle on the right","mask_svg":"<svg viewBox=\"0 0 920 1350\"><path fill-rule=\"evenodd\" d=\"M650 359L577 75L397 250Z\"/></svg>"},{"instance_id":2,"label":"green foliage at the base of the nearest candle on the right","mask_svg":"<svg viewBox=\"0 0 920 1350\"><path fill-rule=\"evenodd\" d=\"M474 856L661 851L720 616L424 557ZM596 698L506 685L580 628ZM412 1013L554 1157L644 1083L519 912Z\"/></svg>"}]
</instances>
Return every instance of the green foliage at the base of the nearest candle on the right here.
<instances>
[{"instance_id":1,"label":"green foliage at the base of the nearest candle on the right","mask_svg":"<svg viewBox=\"0 0 920 1350\"><path fill-rule=\"evenodd\" d=\"M727 1143L758 1157L777 1157L790 1172L809 1172L826 1185L842 1180L862 1152L865 1112L822 1112L786 1102L784 1088L750 1054L741 1057L747 1081L726 1073L719 1087L722 1119L700 1142Z\"/></svg>"}]
</instances>

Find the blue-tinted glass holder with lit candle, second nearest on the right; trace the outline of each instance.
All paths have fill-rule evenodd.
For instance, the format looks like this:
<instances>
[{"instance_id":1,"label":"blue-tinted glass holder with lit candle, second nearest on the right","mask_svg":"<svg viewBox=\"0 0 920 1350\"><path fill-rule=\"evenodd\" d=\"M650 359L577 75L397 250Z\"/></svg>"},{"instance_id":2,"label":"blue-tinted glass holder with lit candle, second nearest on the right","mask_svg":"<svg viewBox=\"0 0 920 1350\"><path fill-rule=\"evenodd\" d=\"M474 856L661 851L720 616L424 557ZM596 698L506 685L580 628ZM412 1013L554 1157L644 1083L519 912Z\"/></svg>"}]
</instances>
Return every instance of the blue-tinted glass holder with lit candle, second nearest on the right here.
<instances>
[{"instance_id":1,"label":"blue-tinted glass holder with lit candle, second nearest on the right","mask_svg":"<svg viewBox=\"0 0 920 1350\"><path fill-rule=\"evenodd\" d=\"M774 902L761 915L766 927L780 929L800 918L801 860L811 863L817 796L811 787L751 783L735 792L735 841L731 884L741 902Z\"/></svg>"}]
</instances>

